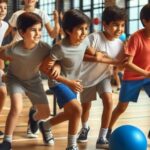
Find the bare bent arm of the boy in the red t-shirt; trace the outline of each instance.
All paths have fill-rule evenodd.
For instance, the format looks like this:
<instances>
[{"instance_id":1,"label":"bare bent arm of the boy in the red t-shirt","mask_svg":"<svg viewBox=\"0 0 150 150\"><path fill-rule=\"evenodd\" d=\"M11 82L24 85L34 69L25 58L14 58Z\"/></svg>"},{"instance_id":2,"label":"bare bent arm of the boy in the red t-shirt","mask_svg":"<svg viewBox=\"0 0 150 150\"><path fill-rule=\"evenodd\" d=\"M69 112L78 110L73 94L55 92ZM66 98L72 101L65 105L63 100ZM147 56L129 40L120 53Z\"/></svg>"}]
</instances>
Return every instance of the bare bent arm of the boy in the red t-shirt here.
<instances>
[{"instance_id":1,"label":"bare bent arm of the boy in the red t-shirt","mask_svg":"<svg viewBox=\"0 0 150 150\"><path fill-rule=\"evenodd\" d=\"M126 68L128 68L128 69L130 69L130 70L132 70L132 71L135 71L135 72L141 74L142 76L145 76L145 77L150 78L150 72L149 72L149 71L146 71L146 70L144 70L144 69L138 67L137 65L135 65L135 64L133 63L133 56L129 56L129 55L128 55L126 58L128 58L128 59L126 60L126 62L124 63L124 66L125 66Z\"/></svg>"}]
</instances>

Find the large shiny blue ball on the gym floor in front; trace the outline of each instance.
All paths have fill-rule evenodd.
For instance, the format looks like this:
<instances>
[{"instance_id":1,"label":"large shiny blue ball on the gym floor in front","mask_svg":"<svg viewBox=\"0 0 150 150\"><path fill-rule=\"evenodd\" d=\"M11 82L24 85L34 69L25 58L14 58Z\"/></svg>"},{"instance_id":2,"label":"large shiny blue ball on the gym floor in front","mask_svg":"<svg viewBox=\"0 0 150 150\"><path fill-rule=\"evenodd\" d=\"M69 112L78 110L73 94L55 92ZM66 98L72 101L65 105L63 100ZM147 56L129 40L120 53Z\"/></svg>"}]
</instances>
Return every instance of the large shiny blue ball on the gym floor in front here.
<instances>
[{"instance_id":1,"label":"large shiny blue ball on the gym floor in front","mask_svg":"<svg viewBox=\"0 0 150 150\"><path fill-rule=\"evenodd\" d=\"M147 139L139 128L123 125L110 136L109 150L147 150Z\"/></svg>"}]
</instances>

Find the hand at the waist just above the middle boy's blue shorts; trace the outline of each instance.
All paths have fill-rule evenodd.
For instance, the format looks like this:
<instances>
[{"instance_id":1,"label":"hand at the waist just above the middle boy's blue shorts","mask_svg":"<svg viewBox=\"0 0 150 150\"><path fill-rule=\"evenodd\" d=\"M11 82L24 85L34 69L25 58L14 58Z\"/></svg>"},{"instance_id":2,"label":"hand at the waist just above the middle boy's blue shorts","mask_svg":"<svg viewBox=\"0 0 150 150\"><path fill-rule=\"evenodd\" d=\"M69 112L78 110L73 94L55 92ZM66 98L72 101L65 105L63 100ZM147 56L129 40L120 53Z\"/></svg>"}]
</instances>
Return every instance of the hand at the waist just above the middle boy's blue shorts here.
<instances>
[{"instance_id":1,"label":"hand at the waist just above the middle boy's blue shorts","mask_svg":"<svg viewBox=\"0 0 150 150\"><path fill-rule=\"evenodd\" d=\"M71 80L68 86L76 93L83 91L83 85L81 85L80 80Z\"/></svg>"}]
</instances>

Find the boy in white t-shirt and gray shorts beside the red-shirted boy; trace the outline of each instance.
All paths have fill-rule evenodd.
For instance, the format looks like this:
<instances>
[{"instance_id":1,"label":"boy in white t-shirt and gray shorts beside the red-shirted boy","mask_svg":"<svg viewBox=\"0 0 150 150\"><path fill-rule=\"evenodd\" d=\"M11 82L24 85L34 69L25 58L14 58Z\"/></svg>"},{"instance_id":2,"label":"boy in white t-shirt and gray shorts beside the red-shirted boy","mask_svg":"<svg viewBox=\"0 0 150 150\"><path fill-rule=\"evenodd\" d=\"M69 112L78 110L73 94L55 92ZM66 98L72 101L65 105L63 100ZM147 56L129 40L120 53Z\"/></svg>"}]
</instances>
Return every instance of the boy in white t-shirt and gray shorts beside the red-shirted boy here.
<instances>
[{"instance_id":1,"label":"boy in white t-shirt and gray shorts beside the red-shirted boy","mask_svg":"<svg viewBox=\"0 0 150 150\"><path fill-rule=\"evenodd\" d=\"M102 50L109 57L119 58L122 53L123 42L119 36L124 32L126 14L125 10L117 6L106 7L102 13L103 32L94 32L88 36L91 45L97 50ZM96 99L96 94L103 102L101 127L96 142L96 148L108 148L106 134L112 113L112 87L111 69L109 64L83 62L81 80L84 91L80 94L82 103L82 129L78 142L87 142L90 127L88 119L91 103Z\"/></svg>"}]
</instances>

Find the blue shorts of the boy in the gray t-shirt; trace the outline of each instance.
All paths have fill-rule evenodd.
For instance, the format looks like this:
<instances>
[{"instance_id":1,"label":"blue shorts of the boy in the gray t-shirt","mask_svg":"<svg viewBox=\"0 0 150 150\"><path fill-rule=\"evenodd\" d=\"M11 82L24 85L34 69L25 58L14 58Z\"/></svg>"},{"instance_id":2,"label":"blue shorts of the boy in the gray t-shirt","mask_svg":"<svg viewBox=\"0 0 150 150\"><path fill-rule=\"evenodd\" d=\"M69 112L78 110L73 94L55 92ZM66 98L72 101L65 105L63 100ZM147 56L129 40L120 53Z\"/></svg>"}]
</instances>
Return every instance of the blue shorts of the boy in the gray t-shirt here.
<instances>
[{"instance_id":1,"label":"blue shorts of the boy in the gray t-shirt","mask_svg":"<svg viewBox=\"0 0 150 150\"><path fill-rule=\"evenodd\" d=\"M65 84L57 84L56 86L51 87L50 89L56 95L59 108L62 108L68 102L77 99L77 93L73 92Z\"/></svg>"}]
</instances>

